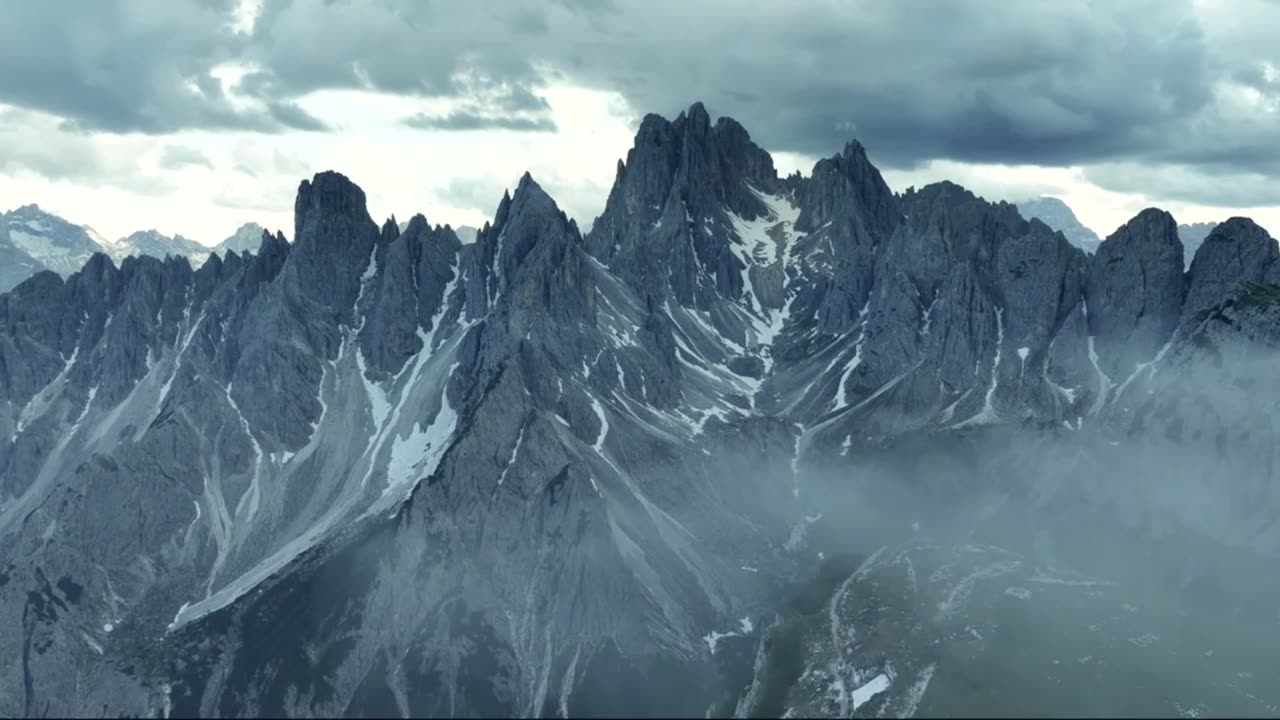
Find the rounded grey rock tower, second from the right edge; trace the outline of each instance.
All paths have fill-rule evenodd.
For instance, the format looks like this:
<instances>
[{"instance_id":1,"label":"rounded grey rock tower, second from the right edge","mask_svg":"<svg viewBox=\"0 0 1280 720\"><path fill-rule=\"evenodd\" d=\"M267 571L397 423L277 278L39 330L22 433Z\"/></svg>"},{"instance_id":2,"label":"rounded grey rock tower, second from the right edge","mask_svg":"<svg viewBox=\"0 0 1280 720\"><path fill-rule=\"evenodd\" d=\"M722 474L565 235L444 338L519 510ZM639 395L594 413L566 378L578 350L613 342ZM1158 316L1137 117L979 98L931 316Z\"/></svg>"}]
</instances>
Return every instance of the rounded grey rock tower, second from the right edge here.
<instances>
[{"instance_id":1,"label":"rounded grey rock tower, second from the right edge","mask_svg":"<svg viewBox=\"0 0 1280 720\"><path fill-rule=\"evenodd\" d=\"M1143 210L1098 246L1084 300L1107 377L1123 379L1156 356L1178 325L1184 293L1183 243L1169 213Z\"/></svg>"}]
</instances>

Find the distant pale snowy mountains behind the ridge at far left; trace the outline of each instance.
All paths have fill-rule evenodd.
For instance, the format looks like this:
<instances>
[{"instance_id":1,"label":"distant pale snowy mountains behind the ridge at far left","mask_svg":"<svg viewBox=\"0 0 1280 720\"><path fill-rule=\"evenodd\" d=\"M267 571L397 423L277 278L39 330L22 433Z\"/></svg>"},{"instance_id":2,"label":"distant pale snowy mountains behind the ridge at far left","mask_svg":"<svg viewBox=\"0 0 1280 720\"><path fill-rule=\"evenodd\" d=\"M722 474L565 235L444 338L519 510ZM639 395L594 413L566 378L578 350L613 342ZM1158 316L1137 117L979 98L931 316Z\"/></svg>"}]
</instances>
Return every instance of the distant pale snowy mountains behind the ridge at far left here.
<instances>
[{"instance_id":1,"label":"distant pale snowy mountains behind the ridge at far left","mask_svg":"<svg viewBox=\"0 0 1280 720\"><path fill-rule=\"evenodd\" d=\"M257 252L264 232L257 223L244 223L214 247L180 234L170 237L155 229L110 241L88 225L72 223L38 205L23 205L0 214L0 292L13 290L41 270L68 277L83 268L95 252L108 255L116 264L131 255L178 255L188 258L196 265L214 252Z\"/></svg>"}]
</instances>

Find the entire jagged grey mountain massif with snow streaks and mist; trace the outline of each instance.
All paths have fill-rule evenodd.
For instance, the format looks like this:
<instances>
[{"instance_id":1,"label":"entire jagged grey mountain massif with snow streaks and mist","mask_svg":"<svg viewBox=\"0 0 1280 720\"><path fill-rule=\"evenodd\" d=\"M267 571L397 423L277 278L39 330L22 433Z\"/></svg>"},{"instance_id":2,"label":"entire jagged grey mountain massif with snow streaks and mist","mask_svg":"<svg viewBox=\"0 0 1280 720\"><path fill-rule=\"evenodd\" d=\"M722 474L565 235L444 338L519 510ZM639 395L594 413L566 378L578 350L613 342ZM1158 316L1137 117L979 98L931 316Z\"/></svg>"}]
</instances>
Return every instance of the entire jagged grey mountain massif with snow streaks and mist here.
<instances>
[{"instance_id":1,"label":"entire jagged grey mountain massif with snow streaks and mist","mask_svg":"<svg viewBox=\"0 0 1280 720\"><path fill-rule=\"evenodd\" d=\"M292 243L26 279L0 715L1275 714L1275 240L873 151L695 104L585 236L326 172Z\"/></svg>"}]
</instances>

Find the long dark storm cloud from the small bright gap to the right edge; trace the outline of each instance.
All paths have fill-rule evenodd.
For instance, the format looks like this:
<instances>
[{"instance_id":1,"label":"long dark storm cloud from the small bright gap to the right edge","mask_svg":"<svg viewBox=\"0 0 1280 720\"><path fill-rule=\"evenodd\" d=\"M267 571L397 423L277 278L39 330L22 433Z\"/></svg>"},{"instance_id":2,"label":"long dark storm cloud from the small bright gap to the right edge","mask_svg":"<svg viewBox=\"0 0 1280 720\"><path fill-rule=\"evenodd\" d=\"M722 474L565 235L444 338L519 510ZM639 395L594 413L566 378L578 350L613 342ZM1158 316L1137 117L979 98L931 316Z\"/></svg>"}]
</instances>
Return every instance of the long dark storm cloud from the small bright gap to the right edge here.
<instances>
[{"instance_id":1,"label":"long dark storm cloud from the small bright gap to the right edge","mask_svg":"<svg viewBox=\"0 0 1280 720\"><path fill-rule=\"evenodd\" d=\"M1206 31L1277 27L1277 8L1204 6L293 0L264 13L252 53L284 92L342 86L468 97L488 83L536 99L549 78L567 78L668 117L703 100L772 150L829 154L858 137L900 168L1149 159L1270 173L1280 150L1253 150L1280 147L1280 123L1242 122L1221 83L1275 96L1263 70L1280 64L1275 44ZM484 123L460 114L444 124ZM1215 170L1212 160L1226 156L1228 168Z\"/></svg>"}]
</instances>

